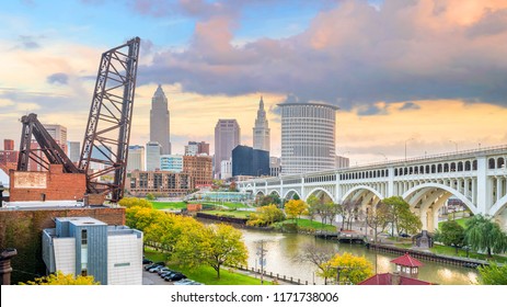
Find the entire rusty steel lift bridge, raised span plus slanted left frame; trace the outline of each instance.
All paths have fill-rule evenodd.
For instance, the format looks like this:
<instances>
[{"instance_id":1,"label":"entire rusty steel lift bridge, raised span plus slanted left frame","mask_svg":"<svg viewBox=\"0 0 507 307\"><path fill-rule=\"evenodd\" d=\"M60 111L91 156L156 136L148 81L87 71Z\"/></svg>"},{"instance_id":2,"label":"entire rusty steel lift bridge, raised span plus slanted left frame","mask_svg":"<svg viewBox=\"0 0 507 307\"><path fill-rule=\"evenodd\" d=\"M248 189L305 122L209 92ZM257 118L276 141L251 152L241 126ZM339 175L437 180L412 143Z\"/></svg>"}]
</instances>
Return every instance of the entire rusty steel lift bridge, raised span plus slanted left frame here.
<instances>
[{"instance_id":1,"label":"entire rusty steel lift bridge, raised span plus slanted left frame","mask_svg":"<svg viewBox=\"0 0 507 307\"><path fill-rule=\"evenodd\" d=\"M113 203L122 200L140 38L135 37L102 54L79 166L70 161L37 115L30 114L21 118L19 171L27 171L30 160L45 170L49 169L49 164L62 164L64 172L87 174L88 194L105 195ZM32 138L38 143L38 149L31 148ZM92 172L92 163L99 171ZM101 181L100 178L105 174L113 174L113 179Z\"/></svg>"}]
</instances>

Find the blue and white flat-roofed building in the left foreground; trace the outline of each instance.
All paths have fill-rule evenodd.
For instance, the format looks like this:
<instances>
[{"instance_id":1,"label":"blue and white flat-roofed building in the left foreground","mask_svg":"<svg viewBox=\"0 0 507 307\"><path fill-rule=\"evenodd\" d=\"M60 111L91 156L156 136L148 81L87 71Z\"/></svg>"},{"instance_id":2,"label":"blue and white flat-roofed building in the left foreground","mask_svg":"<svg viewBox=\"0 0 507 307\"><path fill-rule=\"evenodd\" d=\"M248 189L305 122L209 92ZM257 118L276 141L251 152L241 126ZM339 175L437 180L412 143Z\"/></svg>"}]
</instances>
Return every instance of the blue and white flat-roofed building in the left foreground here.
<instances>
[{"instance_id":1,"label":"blue and white flat-roofed building in the left foreground","mask_svg":"<svg viewBox=\"0 0 507 307\"><path fill-rule=\"evenodd\" d=\"M92 217L57 217L43 230L49 273L92 275L103 285L142 284L142 232Z\"/></svg>"}]
</instances>

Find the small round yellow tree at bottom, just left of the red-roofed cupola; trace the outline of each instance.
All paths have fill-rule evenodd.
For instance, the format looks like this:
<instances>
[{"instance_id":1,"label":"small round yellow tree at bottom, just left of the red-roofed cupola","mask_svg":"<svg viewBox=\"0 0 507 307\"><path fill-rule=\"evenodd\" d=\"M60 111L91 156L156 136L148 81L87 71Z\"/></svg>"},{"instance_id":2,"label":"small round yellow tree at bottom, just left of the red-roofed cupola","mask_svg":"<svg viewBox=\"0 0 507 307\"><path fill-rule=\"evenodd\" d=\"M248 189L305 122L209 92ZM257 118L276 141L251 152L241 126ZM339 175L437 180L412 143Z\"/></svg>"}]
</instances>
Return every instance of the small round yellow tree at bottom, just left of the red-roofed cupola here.
<instances>
[{"instance_id":1,"label":"small round yellow tree at bottom, just left of the red-roofed cupola","mask_svg":"<svg viewBox=\"0 0 507 307\"><path fill-rule=\"evenodd\" d=\"M326 274L335 273L334 277L338 278L338 284L352 283L357 285L364 280L373 275L373 264L365 257L353 255L345 252L337 253L326 265Z\"/></svg>"}]
</instances>

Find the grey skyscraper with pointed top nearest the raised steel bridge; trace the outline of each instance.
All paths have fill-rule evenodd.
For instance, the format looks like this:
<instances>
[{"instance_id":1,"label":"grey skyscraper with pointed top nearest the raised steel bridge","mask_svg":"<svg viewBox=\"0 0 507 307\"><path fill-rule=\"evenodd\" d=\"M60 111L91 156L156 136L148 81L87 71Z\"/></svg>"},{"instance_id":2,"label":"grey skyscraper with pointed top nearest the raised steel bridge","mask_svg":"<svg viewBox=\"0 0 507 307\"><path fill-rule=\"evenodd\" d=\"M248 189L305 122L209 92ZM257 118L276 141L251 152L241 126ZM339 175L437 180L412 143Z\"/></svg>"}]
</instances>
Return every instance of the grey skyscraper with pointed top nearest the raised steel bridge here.
<instances>
[{"instance_id":1,"label":"grey skyscraper with pointed top nearest the raised steel bridge","mask_svg":"<svg viewBox=\"0 0 507 307\"><path fill-rule=\"evenodd\" d=\"M151 99L150 111L150 141L158 141L162 147L162 155L171 155L169 129L168 99L159 84Z\"/></svg>"}]
</instances>

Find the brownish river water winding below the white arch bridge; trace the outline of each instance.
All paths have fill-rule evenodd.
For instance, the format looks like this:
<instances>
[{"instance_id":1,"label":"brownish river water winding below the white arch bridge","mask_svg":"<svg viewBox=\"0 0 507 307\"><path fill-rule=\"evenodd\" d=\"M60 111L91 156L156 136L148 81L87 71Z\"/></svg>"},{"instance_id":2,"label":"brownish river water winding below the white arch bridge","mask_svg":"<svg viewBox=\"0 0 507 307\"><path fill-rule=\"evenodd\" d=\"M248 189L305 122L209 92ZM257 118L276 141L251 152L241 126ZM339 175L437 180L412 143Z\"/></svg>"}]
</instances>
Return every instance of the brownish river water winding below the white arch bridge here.
<instances>
[{"instance_id":1,"label":"brownish river water winding below the white arch bridge","mask_svg":"<svg viewBox=\"0 0 507 307\"><path fill-rule=\"evenodd\" d=\"M355 255L365 255L371 263L377 262L378 273L393 272L395 265L390 261L399 255L389 253L375 253L361 245L338 243L333 240L314 238L313 236L299 234L278 234L262 230L241 229L244 242L249 249L249 268L260 269L257 264L258 241L264 241L266 252L265 271L267 273L292 276L301 283L308 281L309 284L324 284L323 278L316 276L316 266L312 263L298 261L298 255L307 245L331 246L336 252L350 252ZM377 261L376 261L377 258ZM477 282L477 271L468 268L440 264L431 261L424 261L424 266L419 268L418 278L441 285L469 285Z\"/></svg>"}]
</instances>

